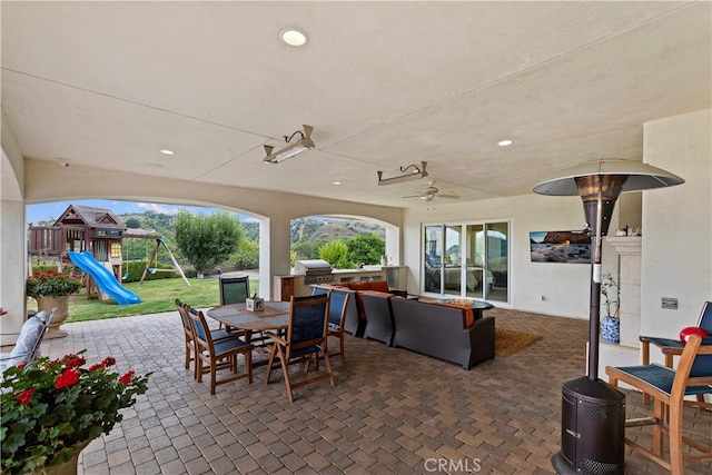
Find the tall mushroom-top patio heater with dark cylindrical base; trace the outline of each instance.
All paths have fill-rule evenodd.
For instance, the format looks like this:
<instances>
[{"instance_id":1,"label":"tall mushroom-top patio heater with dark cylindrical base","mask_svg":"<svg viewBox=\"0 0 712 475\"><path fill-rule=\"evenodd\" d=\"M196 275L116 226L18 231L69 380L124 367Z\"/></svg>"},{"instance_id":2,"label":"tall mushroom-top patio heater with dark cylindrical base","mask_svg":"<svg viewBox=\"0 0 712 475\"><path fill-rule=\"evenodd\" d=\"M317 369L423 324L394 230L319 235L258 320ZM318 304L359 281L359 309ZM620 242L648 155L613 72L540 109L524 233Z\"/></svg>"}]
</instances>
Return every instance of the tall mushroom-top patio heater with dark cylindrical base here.
<instances>
[{"instance_id":1,"label":"tall mushroom-top patio heater with dark cylindrical base","mask_svg":"<svg viewBox=\"0 0 712 475\"><path fill-rule=\"evenodd\" d=\"M625 395L599 379L601 247L621 192L671 187L684 180L641 161L605 158L563 170L534 192L581 196L591 229L589 373L562 384L561 452L552 457L558 474L623 474Z\"/></svg>"}]
</instances>

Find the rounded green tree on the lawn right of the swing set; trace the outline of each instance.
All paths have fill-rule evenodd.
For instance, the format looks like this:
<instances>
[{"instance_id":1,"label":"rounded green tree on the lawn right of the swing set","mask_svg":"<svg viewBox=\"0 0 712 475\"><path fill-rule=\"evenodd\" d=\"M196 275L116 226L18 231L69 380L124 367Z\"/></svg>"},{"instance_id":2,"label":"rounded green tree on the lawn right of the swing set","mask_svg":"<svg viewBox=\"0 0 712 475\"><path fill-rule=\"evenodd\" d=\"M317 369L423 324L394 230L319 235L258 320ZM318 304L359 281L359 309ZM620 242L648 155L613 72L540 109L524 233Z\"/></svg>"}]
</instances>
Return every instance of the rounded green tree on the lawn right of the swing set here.
<instances>
[{"instance_id":1,"label":"rounded green tree on the lawn right of the swing set","mask_svg":"<svg viewBox=\"0 0 712 475\"><path fill-rule=\"evenodd\" d=\"M176 244L198 274L226 260L244 239L243 227L228 212L176 215Z\"/></svg>"}]
</instances>

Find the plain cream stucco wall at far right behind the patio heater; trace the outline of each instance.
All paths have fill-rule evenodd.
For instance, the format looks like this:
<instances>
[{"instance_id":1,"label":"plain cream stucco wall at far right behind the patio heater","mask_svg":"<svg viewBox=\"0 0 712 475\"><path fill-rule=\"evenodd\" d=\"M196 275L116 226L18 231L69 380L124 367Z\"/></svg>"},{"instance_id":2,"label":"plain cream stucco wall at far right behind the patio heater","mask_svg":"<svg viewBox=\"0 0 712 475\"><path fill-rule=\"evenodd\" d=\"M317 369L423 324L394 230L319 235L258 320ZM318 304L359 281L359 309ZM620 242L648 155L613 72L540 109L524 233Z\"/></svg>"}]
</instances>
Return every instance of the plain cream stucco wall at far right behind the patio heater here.
<instances>
[{"instance_id":1,"label":"plain cream stucco wall at far right behind the patio heater","mask_svg":"<svg viewBox=\"0 0 712 475\"><path fill-rule=\"evenodd\" d=\"M645 123L645 161L685 182L643 195L643 335L678 338L712 300L711 117L706 109ZM662 297L678 298L678 310L661 308Z\"/></svg>"}]
</instances>

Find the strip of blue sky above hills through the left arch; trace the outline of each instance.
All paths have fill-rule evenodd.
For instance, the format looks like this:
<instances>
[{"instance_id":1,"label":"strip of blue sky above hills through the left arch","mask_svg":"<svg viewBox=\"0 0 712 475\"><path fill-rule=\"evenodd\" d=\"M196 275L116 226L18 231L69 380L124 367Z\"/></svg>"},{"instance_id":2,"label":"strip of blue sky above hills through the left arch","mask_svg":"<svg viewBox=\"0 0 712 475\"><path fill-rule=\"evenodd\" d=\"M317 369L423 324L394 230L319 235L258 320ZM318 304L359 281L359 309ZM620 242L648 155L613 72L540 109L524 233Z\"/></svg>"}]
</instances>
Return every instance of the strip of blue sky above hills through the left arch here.
<instances>
[{"instance_id":1,"label":"strip of blue sky above hills through the left arch","mask_svg":"<svg viewBox=\"0 0 712 475\"><path fill-rule=\"evenodd\" d=\"M180 205L162 205L156 202L135 202L135 201L117 201L107 199L75 199L72 201L53 201L43 202L41 205L27 206L27 222L37 224L41 220L57 219L65 212L69 205L96 206L97 208L106 208L113 211L115 215L125 212L144 212L154 210L166 215L175 215L179 209L184 208L194 214L209 215L216 211L216 208L204 208L199 206L180 206ZM240 221L250 221L251 218L238 215Z\"/></svg>"}]
</instances>

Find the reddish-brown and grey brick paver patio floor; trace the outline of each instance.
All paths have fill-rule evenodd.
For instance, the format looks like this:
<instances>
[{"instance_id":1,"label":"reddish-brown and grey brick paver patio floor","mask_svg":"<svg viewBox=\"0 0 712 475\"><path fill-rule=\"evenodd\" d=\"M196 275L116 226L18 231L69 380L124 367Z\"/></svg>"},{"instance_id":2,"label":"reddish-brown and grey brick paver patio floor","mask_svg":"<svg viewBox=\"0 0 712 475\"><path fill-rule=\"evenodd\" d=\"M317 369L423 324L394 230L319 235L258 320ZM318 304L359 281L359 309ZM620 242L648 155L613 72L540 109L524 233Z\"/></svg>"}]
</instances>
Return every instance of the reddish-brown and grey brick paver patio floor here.
<instances>
[{"instance_id":1,"label":"reddish-brown and grey brick paver patio floor","mask_svg":"<svg viewBox=\"0 0 712 475\"><path fill-rule=\"evenodd\" d=\"M154 372L149 390L80 458L83 474L550 474L558 452L561 383L585 374L587 321L493 309L496 326L537 333L535 344L471 370L346 337L346 363L287 399L281 373L217 387L184 368L177 313L65 324L44 355L87 349L118 370ZM605 375L603 375L605 376ZM650 415L627 392L629 416ZM712 413L686 408L685 428L712 439ZM650 428L627 429L639 443ZM438 461L445 466L438 468ZM712 465L688 468L709 474ZM626 473L664 474L626 449Z\"/></svg>"}]
</instances>

